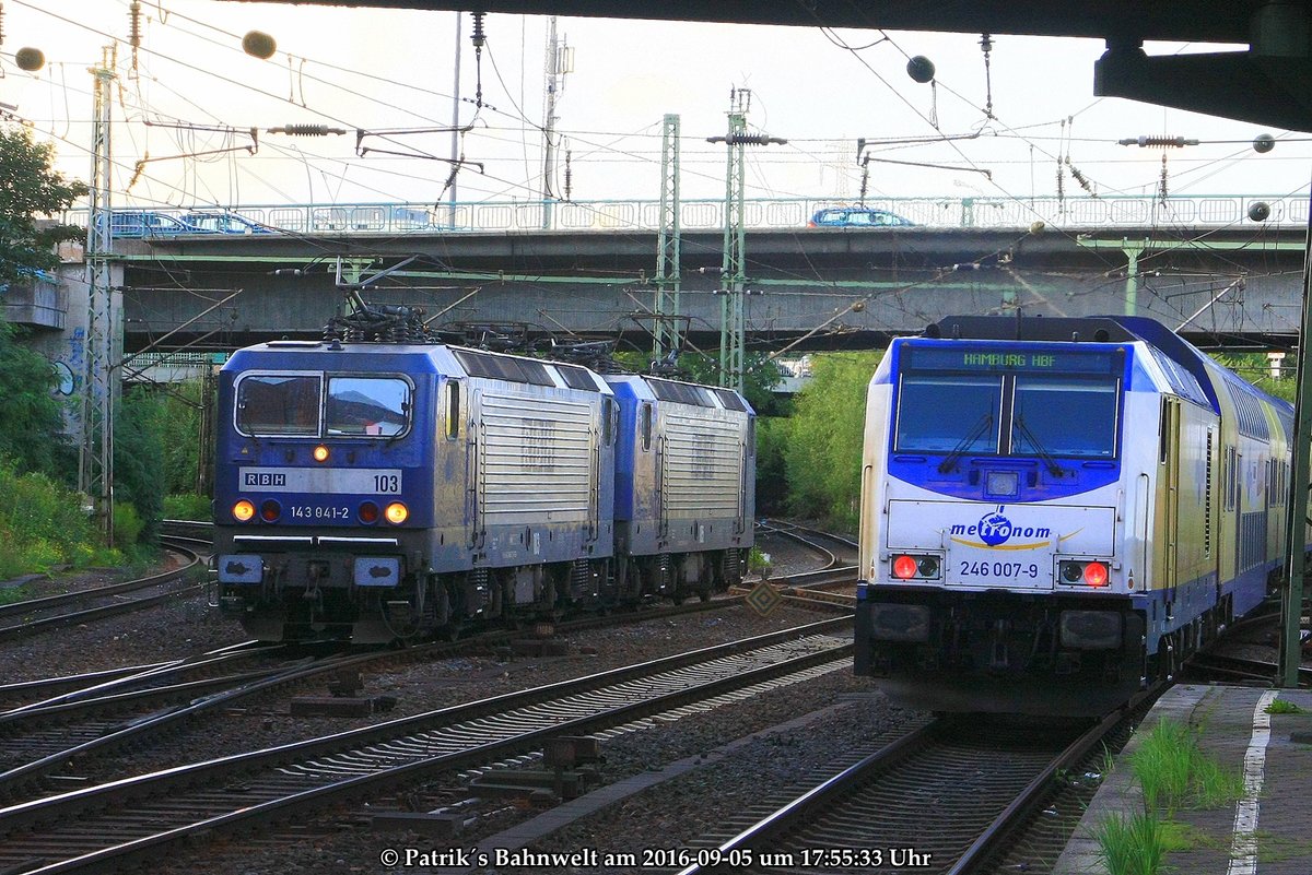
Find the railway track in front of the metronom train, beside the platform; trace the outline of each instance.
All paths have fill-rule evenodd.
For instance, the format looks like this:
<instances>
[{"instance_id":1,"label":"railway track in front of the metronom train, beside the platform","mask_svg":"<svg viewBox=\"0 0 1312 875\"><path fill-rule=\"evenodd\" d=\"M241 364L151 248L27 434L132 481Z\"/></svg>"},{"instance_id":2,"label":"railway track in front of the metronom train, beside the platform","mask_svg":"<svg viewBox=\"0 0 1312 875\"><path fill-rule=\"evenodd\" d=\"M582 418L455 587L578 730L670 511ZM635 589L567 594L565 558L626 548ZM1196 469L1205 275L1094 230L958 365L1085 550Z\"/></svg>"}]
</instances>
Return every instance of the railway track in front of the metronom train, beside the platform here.
<instances>
[{"instance_id":1,"label":"railway track in front of the metronom train, beside the platform","mask_svg":"<svg viewBox=\"0 0 1312 875\"><path fill-rule=\"evenodd\" d=\"M1034 811L1054 804L1059 775L1088 768L1111 735L1128 739L1126 714L1093 727L945 718L888 734L804 791L726 823L678 861L687 863L680 875L1039 872L1064 834L1025 836L1018 853L1008 842ZM1077 820L1076 812L1071 828Z\"/></svg>"}]
</instances>

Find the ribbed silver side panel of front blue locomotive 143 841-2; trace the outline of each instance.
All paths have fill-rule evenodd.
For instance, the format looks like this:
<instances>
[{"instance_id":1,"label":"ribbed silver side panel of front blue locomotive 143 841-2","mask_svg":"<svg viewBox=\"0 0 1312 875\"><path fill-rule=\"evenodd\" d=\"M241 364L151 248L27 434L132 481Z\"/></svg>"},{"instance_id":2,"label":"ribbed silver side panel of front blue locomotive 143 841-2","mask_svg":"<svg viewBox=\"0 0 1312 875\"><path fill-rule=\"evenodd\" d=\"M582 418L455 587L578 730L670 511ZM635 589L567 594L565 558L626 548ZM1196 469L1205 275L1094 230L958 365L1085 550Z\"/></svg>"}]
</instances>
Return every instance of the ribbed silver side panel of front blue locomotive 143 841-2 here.
<instances>
[{"instance_id":1,"label":"ribbed silver side panel of front blue locomotive 143 841-2","mask_svg":"<svg viewBox=\"0 0 1312 875\"><path fill-rule=\"evenodd\" d=\"M559 398L484 394L479 486L485 525L585 521L596 483L592 407Z\"/></svg>"}]
</instances>

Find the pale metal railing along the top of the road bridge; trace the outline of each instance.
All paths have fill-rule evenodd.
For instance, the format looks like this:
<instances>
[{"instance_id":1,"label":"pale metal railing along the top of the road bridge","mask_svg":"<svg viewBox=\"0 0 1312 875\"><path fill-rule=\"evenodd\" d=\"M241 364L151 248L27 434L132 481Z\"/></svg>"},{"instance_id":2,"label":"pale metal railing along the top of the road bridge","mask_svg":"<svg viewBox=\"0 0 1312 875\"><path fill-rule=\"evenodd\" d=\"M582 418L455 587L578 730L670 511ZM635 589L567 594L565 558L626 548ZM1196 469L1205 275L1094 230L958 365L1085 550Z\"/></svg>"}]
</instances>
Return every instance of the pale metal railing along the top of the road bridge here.
<instances>
[{"instance_id":1,"label":"pale metal railing along the top of the road bridge","mask_svg":"<svg viewBox=\"0 0 1312 875\"><path fill-rule=\"evenodd\" d=\"M1258 224L1249 208L1265 203L1266 225L1307 225L1308 198L1286 195L1187 195L1081 198L867 198L863 206L887 210L932 228L1026 228L1035 221L1057 228L1147 225ZM749 228L806 228L817 211L854 206L833 198L752 199L744 204ZM136 211L125 208L125 212ZM214 207L151 208L181 219ZM584 232L656 231L660 204L655 200L505 200L468 203L340 203L243 204L227 208L272 231L295 234L405 234L433 232ZM70 211L70 224L85 227L87 212ZM680 206L684 231L719 231L723 200L685 200ZM118 234L126 236L126 234Z\"/></svg>"}]
</instances>

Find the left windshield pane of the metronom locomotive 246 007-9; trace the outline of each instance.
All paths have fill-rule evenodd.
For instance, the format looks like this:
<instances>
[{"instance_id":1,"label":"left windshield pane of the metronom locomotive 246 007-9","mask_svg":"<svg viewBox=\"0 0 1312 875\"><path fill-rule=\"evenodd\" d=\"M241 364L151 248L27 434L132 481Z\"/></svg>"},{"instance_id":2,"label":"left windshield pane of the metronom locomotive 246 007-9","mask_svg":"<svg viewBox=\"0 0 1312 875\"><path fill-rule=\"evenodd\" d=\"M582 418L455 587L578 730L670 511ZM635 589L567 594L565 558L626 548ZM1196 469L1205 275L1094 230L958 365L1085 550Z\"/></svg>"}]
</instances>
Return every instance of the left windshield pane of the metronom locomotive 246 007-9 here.
<instances>
[{"instance_id":1,"label":"left windshield pane of the metronom locomotive 246 007-9","mask_svg":"<svg viewBox=\"0 0 1312 875\"><path fill-rule=\"evenodd\" d=\"M900 452L997 453L1001 376L908 373L897 390Z\"/></svg>"}]
</instances>

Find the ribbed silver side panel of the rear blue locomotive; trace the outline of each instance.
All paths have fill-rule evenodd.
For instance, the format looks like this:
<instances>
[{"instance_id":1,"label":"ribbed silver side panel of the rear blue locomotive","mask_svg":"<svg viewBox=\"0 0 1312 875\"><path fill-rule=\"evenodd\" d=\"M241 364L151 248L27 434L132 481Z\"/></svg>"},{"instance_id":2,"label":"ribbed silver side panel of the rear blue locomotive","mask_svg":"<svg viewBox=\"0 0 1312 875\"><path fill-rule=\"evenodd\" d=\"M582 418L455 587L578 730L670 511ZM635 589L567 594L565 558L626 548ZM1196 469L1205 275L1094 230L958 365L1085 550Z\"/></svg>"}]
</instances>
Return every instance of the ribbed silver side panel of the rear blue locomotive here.
<instances>
[{"instance_id":1,"label":"ribbed silver side panel of the rear blue locomotive","mask_svg":"<svg viewBox=\"0 0 1312 875\"><path fill-rule=\"evenodd\" d=\"M665 516L674 519L736 516L743 482L740 423L664 406Z\"/></svg>"}]
</instances>

